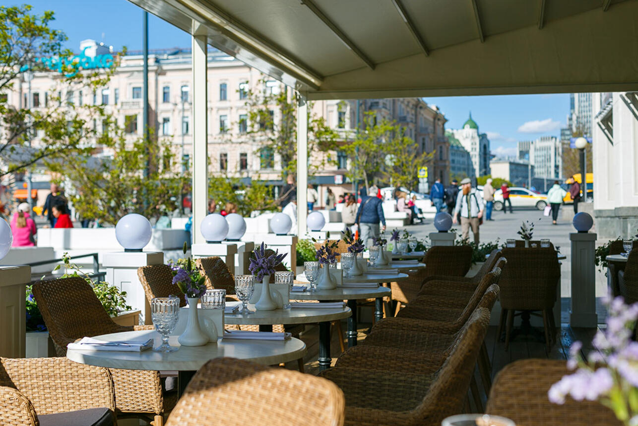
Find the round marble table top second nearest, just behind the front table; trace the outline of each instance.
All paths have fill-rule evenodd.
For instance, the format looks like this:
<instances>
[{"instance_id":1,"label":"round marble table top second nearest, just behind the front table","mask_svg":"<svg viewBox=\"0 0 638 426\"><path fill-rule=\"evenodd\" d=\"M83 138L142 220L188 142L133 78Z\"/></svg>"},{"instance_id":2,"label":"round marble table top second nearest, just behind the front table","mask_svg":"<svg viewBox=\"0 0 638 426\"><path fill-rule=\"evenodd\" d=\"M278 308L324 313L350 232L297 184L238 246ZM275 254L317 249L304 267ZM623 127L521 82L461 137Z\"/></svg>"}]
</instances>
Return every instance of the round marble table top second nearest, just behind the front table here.
<instances>
[{"instance_id":1,"label":"round marble table top second nearest, just behind the front table","mask_svg":"<svg viewBox=\"0 0 638 426\"><path fill-rule=\"evenodd\" d=\"M310 324L335 321L352 315L348 307L255 310L255 305L248 305L248 308L254 312L249 315L225 314L224 323L239 325Z\"/></svg>"}]
</instances>

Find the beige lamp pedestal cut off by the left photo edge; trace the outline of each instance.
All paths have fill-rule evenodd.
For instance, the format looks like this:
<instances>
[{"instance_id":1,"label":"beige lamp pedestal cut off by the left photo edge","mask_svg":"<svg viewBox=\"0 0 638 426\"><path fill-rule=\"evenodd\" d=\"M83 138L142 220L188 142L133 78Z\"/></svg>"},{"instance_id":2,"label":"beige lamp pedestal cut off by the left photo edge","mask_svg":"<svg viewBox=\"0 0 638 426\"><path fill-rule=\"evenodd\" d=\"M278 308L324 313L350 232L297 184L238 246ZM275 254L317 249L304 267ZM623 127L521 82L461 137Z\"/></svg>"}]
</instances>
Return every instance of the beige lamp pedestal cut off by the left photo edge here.
<instances>
[{"instance_id":1,"label":"beige lamp pedestal cut off by the left photo edge","mask_svg":"<svg viewBox=\"0 0 638 426\"><path fill-rule=\"evenodd\" d=\"M0 267L0 356L24 358L26 341L25 287L31 266Z\"/></svg>"}]
</instances>

